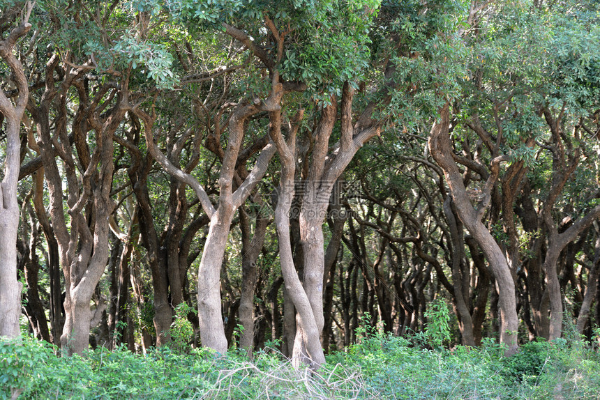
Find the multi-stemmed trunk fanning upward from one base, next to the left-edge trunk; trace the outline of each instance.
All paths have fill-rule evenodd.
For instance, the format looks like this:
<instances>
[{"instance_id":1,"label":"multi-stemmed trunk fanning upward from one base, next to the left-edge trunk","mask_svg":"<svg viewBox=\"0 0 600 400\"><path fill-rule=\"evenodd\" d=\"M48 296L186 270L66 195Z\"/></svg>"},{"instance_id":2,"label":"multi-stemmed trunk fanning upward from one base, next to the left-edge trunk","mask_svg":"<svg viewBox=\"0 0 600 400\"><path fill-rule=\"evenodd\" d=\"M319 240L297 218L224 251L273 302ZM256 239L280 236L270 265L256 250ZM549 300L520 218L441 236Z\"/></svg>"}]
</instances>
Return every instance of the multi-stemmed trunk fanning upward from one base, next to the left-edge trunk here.
<instances>
[{"instance_id":1,"label":"multi-stemmed trunk fanning upward from one base, next to the left-edge trunk","mask_svg":"<svg viewBox=\"0 0 600 400\"><path fill-rule=\"evenodd\" d=\"M117 89L114 82L107 82L90 98L89 87L82 79L84 69L70 68L67 68L68 72L73 73L67 73L66 80L57 88L54 69L59 61L57 56L48 61L40 106L31 106L30 111L37 125L37 144L50 192L52 228L65 277L66 321L61 346L67 354L72 354L83 353L88 348L92 318L90 302L109 256L109 219L114 209L110 199L114 171L112 137L125 114L123 94L127 89ZM79 108L71 125L73 141L67 134L66 107L71 86L75 86L79 97ZM101 114L109 104L107 99L115 99L116 104ZM103 101L105 104L100 106ZM54 137L50 133L49 117L53 104L57 107ZM96 146L90 151L87 134L92 130ZM59 171L57 159L63 162L64 176ZM79 173L77 164L81 165L83 174ZM68 193L68 227L63 208L63 179Z\"/></svg>"}]
</instances>

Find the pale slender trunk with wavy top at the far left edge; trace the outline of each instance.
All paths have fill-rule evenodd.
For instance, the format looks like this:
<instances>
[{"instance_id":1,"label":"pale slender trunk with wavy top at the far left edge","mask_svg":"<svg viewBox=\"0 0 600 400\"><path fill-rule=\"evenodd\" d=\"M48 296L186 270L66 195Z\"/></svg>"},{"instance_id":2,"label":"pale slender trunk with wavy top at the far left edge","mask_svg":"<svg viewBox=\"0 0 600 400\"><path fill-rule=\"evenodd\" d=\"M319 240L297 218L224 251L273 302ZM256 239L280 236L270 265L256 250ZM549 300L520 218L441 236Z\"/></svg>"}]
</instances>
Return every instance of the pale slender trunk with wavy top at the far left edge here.
<instances>
[{"instance_id":1,"label":"pale slender trunk with wavy top at the far left edge","mask_svg":"<svg viewBox=\"0 0 600 400\"><path fill-rule=\"evenodd\" d=\"M8 64L19 91L16 104L6 98L0 90L0 114L6 118L6 153L4 178L0 185L0 336L17 337L20 334L22 284L17 280L17 230L19 227L19 205L17 203L17 181L19 179L20 148L19 131L21 118L27 105L29 88L23 67L13 54L17 40L30 29L27 22L33 5L27 3L27 12L22 22L0 42L0 57Z\"/></svg>"}]
</instances>

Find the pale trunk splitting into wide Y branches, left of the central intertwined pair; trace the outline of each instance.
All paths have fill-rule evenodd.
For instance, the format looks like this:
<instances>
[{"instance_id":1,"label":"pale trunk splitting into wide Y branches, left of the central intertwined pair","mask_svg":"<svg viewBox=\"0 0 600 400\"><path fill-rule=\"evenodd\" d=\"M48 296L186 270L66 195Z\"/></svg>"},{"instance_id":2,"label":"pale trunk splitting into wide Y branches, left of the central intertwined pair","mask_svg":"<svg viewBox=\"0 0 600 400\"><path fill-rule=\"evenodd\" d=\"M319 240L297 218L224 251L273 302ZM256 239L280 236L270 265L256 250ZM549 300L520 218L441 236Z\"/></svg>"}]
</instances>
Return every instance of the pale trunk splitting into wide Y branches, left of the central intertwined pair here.
<instances>
[{"instance_id":1,"label":"pale trunk splitting into wide Y branches, left of the central intertwined pair","mask_svg":"<svg viewBox=\"0 0 600 400\"><path fill-rule=\"evenodd\" d=\"M153 158L174 178L190 185L195 190L204 212L210 218L209 233L206 243L204 243L202 259L198 267L197 304L202 346L212 348L218 353L224 354L227 351L227 337L223 325L220 298L220 270L225 255L227 236L235 210L241 206L243 201L246 201L250 192L267 171L267 164L269 164L269 160L275 153L275 146L272 144L264 146L255 167L248 174L248 178L234 191L235 167L245 123L250 116L260 111L279 109L282 94L272 92L267 100L255 99L251 105L242 103L232 111L229 120L227 149L223 155L223 164L218 179L220 189L218 208L214 208L202 185L188 172L175 167L156 146L152 134L153 122L156 116L150 116L140 109L134 109L135 113L144 121L144 136Z\"/></svg>"}]
</instances>

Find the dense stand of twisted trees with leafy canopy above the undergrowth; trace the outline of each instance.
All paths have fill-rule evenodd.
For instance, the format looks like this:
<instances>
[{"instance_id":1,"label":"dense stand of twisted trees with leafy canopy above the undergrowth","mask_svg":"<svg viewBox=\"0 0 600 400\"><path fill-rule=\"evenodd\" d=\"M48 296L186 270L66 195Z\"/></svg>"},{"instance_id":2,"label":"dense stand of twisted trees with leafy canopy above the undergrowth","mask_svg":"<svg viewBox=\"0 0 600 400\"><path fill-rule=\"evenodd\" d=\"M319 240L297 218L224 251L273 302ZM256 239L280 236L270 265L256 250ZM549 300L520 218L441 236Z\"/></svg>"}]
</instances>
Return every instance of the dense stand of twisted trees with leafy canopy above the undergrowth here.
<instances>
[{"instance_id":1,"label":"dense stand of twisted trees with leafy canopy above the undergrowth","mask_svg":"<svg viewBox=\"0 0 600 400\"><path fill-rule=\"evenodd\" d=\"M591 341L599 17L3 0L0 335L317 369L449 307L447 346Z\"/></svg>"}]
</instances>

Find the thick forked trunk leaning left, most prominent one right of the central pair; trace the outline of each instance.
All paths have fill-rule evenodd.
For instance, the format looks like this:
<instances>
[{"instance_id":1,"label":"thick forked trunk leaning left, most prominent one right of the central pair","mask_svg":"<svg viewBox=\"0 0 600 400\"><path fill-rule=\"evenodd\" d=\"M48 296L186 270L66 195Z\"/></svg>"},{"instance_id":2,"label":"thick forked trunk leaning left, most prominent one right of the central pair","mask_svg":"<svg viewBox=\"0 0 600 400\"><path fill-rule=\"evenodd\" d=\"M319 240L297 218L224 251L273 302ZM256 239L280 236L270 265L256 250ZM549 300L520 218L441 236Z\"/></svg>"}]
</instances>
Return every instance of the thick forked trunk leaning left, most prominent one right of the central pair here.
<instances>
[{"instance_id":1,"label":"thick forked trunk leaning left, most prominent one right of the central pair","mask_svg":"<svg viewBox=\"0 0 600 400\"><path fill-rule=\"evenodd\" d=\"M450 111L447 103L441 110L441 122L436 122L431 128L429 136L429 148L431 155L437 164L444 170L444 176L450 187L452 199L456 204L458 217L469 229L473 238L479 243L479 247L486 255L490 268L496 280L500 305L500 341L506 344L507 355L518 351L518 315L516 311L515 284L504 252L494 240L492 234L481 222L483 211L487 208L490 200L490 191L495 184L499 172L499 164L504 161L497 157L492 161L492 174L486 182L484 193L486 198L476 210L467 195L458 167L452 157L452 146L449 136Z\"/></svg>"}]
</instances>

